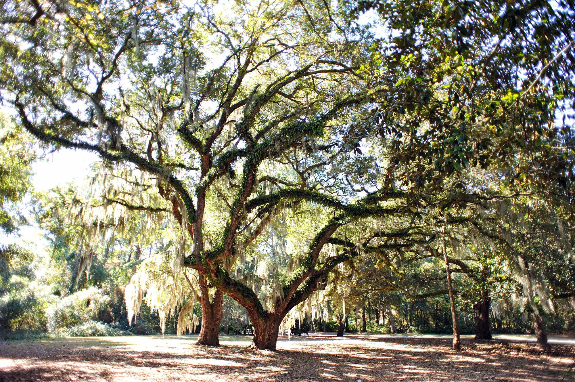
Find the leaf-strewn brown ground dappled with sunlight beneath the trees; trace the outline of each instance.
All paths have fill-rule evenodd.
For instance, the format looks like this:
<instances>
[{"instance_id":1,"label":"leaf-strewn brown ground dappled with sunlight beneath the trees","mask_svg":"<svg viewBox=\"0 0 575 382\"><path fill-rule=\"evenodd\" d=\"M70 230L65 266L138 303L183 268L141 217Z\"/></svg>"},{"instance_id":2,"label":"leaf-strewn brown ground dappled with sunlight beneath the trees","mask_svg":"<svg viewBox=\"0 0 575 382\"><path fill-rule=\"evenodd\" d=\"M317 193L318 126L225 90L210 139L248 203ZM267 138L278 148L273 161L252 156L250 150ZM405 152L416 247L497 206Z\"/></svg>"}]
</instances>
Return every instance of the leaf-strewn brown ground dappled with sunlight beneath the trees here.
<instances>
[{"instance_id":1,"label":"leaf-strewn brown ground dappled with sunlight beneath the trees","mask_svg":"<svg viewBox=\"0 0 575 382\"><path fill-rule=\"evenodd\" d=\"M195 336L194 336L195 337ZM573 381L573 346L383 335L281 339L278 352L247 336L91 337L0 342L0 381Z\"/></svg>"}]
</instances>

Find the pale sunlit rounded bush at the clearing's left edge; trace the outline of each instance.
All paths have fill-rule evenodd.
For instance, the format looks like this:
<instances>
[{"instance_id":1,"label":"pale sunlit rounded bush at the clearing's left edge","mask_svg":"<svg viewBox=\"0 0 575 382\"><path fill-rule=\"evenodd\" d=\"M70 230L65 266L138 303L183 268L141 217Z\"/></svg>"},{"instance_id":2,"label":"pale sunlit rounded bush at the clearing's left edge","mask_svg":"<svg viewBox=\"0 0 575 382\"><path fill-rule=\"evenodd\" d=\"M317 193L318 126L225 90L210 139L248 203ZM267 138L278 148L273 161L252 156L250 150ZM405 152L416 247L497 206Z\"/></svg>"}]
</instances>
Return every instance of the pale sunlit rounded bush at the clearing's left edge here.
<instances>
[{"instance_id":1,"label":"pale sunlit rounded bush at the clearing's left edge","mask_svg":"<svg viewBox=\"0 0 575 382\"><path fill-rule=\"evenodd\" d=\"M48 331L60 332L67 328L81 327L90 321L101 320L110 314L110 297L102 289L91 287L64 297L48 308Z\"/></svg>"}]
</instances>

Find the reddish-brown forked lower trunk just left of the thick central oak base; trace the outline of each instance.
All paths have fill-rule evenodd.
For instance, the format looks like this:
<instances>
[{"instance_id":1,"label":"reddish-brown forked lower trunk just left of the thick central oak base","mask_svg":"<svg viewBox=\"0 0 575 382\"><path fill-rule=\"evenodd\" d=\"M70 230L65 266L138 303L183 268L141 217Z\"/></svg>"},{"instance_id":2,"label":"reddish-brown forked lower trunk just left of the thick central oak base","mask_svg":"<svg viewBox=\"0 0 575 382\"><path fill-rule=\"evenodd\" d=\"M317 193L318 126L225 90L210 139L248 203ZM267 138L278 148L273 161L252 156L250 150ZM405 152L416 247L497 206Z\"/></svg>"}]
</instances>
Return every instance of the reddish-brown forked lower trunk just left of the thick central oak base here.
<instances>
[{"instance_id":1,"label":"reddish-brown forked lower trunk just left of the thick central oak base","mask_svg":"<svg viewBox=\"0 0 575 382\"><path fill-rule=\"evenodd\" d=\"M205 287L206 277L200 275L200 291L202 305L202 326L196 345L220 346L220 323L222 317L221 307L224 302L224 292L216 289L213 300L210 302L208 288Z\"/></svg>"}]
</instances>

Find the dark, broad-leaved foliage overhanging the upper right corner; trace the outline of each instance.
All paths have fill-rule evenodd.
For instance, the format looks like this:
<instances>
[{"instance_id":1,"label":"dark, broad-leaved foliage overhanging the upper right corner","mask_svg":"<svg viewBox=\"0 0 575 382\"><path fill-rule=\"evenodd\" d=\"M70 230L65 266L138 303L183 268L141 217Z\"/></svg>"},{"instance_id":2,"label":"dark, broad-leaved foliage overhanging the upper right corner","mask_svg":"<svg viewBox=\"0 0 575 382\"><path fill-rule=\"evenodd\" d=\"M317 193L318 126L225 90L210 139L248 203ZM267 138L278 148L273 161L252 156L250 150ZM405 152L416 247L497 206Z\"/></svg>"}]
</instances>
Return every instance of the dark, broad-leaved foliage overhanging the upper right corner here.
<instances>
[{"instance_id":1,"label":"dark, broad-leaved foliage overhanging the upper right corner","mask_svg":"<svg viewBox=\"0 0 575 382\"><path fill-rule=\"evenodd\" d=\"M378 106L350 139L380 135L414 188L443 189L446 178L489 167L510 170L509 188L570 194L573 155L555 144L570 125L554 120L575 96L575 6L559 3L358 2L390 29L362 67L381 89ZM517 156L526 160L509 169Z\"/></svg>"}]
</instances>

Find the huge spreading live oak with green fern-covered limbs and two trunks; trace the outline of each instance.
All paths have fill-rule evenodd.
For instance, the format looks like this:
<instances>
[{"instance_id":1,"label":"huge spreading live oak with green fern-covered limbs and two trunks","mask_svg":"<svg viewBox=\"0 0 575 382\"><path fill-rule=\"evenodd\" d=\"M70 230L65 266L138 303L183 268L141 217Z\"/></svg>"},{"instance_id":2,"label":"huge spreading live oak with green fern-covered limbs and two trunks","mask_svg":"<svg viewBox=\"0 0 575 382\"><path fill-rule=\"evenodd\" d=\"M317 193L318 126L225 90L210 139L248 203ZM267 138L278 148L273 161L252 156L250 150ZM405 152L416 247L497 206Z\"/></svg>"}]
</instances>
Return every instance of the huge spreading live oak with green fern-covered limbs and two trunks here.
<instances>
[{"instance_id":1,"label":"huge spreading live oak with green fern-covered limbs and two trunks","mask_svg":"<svg viewBox=\"0 0 575 382\"><path fill-rule=\"evenodd\" d=\"M362 41L348 40L323 3L236 2L229 9L207 2L190 9L178 2L4 6L3 97L24 127L53 146L94 151L105 161L154 175L158 192L191 238L185 265L203 275L202 333L210 333L200 342L217 344L226 292L249 312L255 346L275 349L283 316L353 254L318 261L333 233L352 219L391 209L377 203L390 193L344 204L310 182L317 167L330 165L329 158L343 150L337 128L346 110L369 100L356 74L358 59L366 55ZM347 33L369 38L361 28ZM313 157L302 161L304 156ZM262 175L262 167L284 158L298 169L307 162L296 170L300 182L284 182L281 190L265 194L261 181L280 182ZM206 250L206 198L221 179L232 185L233 202L225 227L211 240L215 246ZM281 298L264 309L249 285L229 275L224 261L231 258L233 264L237 246L248 246L278 211L298 200L339 212L316 235ZM129 205L126 198L109 201ZM212 301L209 287L217 288Z\"/></svg>"}]
</instances>

